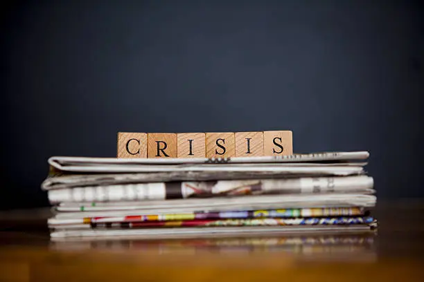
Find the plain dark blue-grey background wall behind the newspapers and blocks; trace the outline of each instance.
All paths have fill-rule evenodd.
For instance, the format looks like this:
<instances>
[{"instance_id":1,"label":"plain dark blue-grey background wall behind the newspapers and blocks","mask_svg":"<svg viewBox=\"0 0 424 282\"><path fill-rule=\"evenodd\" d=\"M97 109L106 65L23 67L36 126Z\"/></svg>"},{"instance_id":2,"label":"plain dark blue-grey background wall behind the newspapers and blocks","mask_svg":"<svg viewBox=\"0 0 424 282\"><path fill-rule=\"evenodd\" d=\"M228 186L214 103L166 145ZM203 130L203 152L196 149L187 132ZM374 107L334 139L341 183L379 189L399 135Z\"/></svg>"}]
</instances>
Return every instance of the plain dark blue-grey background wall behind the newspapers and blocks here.
<instances>
[{"instance_id":1,"label":"plain dark blue-grey background wall behind the newspapers and blocks","mask_svg":"<svg viewBox=\"0 0 424 282\"><path fill-rule=\"evenodd\" d=\"M87 2L87 3L85 3ZM421 1L15 1L1 9L0 207L116 133L292 130L424 196Z\"/></svg>"}]
</instances>

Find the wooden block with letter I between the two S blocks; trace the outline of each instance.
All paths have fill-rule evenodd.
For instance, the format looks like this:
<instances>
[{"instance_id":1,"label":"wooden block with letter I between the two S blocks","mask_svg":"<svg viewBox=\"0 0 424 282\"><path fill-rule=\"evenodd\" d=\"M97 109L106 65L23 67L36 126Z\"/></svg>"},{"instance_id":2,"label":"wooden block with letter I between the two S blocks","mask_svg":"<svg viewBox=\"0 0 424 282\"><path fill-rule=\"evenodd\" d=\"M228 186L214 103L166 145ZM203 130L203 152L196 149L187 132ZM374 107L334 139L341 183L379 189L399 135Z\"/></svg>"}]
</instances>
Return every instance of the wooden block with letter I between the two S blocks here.
<instances>
[{"instance_id":1,"label":"wooden block with letter I between the two S blocks","mask_svg":"<svg viewBox=\"0 0 424 282\"><path fill-rule=\"evenodd\" d=\"M263 132L236 132L236 157L263 156Z\"/></svg>"}]
</instances>

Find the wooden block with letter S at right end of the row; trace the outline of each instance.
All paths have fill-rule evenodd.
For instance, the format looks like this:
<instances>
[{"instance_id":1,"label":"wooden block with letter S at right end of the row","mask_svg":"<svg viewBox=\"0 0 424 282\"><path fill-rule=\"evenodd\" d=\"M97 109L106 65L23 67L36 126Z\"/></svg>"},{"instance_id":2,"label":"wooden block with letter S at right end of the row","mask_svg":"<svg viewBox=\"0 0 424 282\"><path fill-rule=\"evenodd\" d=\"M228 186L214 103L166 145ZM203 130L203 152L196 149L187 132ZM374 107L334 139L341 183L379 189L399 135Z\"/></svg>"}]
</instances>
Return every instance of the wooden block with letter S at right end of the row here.
<instances>
[{"instance_id":1,"label":"wooden block with letter S at right end of the row","mask_svg":"<svg viewBox=\"0 0 424 282\"><path fill-rule=\"evenodd\" d=\"M263 155L285 156L293 154L292 131L264 131Z\"/></svg>"}]
</instances>

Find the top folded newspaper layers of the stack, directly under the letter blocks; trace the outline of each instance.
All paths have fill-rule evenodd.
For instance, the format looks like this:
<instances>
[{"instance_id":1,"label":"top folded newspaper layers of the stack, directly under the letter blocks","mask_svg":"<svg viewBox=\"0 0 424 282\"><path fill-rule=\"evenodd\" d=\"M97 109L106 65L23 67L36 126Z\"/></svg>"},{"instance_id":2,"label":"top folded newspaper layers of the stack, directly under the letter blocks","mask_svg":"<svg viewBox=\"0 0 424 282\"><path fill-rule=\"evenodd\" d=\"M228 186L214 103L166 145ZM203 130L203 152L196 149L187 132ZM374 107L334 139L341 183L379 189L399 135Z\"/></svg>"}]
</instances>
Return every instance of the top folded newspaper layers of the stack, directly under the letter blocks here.
<instances>
[{"instance_id":1,"label":"top folded newspaper layers of the stack, directly under the letter blocks","mask_svg":"<svg viewBox=\"0 0 424 282\"><path fill-rule=\"evenodd\" d=\"M48 159L51 171L42 183L42 189L274 176L352 176L364 174L364 160L368 157L366 151L211 159L52 157Z\"/></svg>"}]
</instances>

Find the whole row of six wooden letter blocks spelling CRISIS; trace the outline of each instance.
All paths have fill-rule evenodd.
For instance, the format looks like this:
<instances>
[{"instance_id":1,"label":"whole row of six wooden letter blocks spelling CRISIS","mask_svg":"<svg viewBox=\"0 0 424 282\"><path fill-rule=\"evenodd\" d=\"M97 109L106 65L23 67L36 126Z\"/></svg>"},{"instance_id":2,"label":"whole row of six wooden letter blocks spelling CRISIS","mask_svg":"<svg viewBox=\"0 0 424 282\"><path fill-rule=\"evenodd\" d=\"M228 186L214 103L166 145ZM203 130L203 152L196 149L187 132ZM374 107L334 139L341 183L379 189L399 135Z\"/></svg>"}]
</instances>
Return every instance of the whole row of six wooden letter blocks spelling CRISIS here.
<instances>
[{"instance_id":1,"label":"whole row of six wooden letter blocks spelling CRISIS","mask_svg":"<svg viewBox=\"0 0 424 282\"><path fill-rule=\"evenodd\" d=\"M118 133L117 158L232 158L293 154L292 131Z\"/></svg>"}]
</instances>

